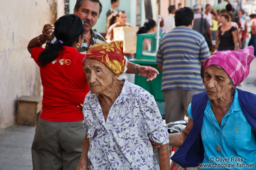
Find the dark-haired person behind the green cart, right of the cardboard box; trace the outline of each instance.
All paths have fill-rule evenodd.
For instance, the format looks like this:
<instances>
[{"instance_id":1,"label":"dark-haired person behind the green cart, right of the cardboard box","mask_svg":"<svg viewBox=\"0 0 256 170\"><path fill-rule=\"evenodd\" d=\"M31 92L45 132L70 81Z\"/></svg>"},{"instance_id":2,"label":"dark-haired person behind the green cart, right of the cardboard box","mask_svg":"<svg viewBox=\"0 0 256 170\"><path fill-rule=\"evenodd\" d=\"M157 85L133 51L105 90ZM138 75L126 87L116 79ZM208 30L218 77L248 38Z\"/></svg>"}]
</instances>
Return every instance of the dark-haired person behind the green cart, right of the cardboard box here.
<instances>
[{"instance_id":1,"label":"dark-haired person behind the green cart, right of the cardboard box","mask_svg":"<svg viewBox=\"0 0 256 170\"><path fill-rule=\"evenodd\" d=\"M145 33L156 33L156 21L154 19L147 18L144 25L137 31L137 35ZM143 39L142 50L151 51L151 39Z\"/></svg>"}]
</instances>

